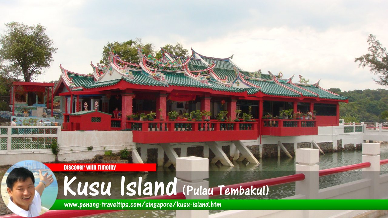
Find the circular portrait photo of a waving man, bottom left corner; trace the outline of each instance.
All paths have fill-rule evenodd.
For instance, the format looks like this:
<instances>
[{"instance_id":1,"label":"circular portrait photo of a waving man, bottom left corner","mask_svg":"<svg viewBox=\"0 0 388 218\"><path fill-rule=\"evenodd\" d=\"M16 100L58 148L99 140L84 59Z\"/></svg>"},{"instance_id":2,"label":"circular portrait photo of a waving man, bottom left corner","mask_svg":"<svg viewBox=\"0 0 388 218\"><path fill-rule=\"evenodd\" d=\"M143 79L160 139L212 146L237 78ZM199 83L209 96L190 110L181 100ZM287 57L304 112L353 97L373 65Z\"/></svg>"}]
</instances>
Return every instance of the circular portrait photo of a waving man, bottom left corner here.
<instances>
[{"instance_id":1,"label":"circular portrait photo of a waving man, bottom left corner","mask_svg":"<svg viewBox=\"0 0 388 218\"><path fill-rule=\"evenodd\" d=\"M21 161L11 166L1 182L1 195L13 213L35 217L48 211L57 199L54 173L38 161Z\"/></svg>"}]
</instances>

